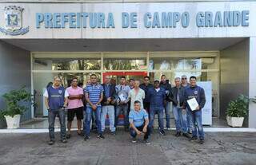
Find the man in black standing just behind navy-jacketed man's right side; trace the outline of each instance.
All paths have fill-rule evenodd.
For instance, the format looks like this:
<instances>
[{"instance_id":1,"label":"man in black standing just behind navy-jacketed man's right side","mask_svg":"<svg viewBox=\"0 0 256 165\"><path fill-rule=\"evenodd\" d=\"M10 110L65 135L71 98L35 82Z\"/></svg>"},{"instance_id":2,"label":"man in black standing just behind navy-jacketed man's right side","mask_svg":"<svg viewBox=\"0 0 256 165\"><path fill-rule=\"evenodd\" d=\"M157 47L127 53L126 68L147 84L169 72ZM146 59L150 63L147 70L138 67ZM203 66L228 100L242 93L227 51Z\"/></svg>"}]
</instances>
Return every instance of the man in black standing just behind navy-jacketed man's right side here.
<instances>
[{"instance_id":1,"label":"man in black standing just behind navy-jacketed man's right side","mask_svg":"<svg viewBox=\"0 0 256 165\"><path fill-rule=\"evenodd\" d=\"M164 88L166 91L166 104L165 104L166 128L167 130L170 130L170 99L168 96L170 94L171 85L169 84L169 81L166 80L166 75L161 76L160 87Z\"/></svg>"}]
</instances>

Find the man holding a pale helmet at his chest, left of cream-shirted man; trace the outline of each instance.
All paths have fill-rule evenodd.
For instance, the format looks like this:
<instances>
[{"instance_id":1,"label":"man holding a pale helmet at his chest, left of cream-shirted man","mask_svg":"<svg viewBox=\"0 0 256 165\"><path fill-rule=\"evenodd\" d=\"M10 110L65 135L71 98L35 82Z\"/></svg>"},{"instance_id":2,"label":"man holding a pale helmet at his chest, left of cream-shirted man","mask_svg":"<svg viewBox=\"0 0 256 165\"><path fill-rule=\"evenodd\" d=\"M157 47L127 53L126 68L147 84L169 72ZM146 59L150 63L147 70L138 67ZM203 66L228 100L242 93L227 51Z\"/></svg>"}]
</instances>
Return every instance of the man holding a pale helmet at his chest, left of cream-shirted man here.
<instances>
[{"instance_id":1,"label":"man holding a pale helmet at his chest, left of cream-shirted man","mask_svg":"<svg viewBox=\"0 0 256 165\"><path fill-rule=\"evenodd\" d=\"M116 94L118 96L118 102L115 112L115 127L118 126L118 116L123 112L125 119L124 119L124 126L125 130L128 131L129 129L129 119L128 119L128 95L130 92L130 87L126 85L126 77L121 77L120 84L115 87Z\"/></svg>"}]
</instances>

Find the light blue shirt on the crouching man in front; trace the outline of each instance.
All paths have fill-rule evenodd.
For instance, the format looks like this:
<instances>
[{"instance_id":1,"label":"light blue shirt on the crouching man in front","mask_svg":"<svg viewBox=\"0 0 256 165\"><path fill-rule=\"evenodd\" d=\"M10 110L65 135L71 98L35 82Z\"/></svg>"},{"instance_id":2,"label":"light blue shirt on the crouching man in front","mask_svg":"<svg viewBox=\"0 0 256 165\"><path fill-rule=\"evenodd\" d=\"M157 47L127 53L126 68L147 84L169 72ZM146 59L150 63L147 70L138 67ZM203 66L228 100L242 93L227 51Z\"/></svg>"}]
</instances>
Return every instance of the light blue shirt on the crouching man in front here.
<instances>
[{"instance_id":1,"label":"light blue shirt on the crouching man in front","mask_svg":"<svg viewBox=\"0 0 256 165\"><path fill-rule=\"evenodd\" d=\"M140 127L144 124L144 120L149 119L145 109L141 109L138 112L135 110L130 110L129 122L134 123L135 127Z\"/></svg>"}]
</instances>

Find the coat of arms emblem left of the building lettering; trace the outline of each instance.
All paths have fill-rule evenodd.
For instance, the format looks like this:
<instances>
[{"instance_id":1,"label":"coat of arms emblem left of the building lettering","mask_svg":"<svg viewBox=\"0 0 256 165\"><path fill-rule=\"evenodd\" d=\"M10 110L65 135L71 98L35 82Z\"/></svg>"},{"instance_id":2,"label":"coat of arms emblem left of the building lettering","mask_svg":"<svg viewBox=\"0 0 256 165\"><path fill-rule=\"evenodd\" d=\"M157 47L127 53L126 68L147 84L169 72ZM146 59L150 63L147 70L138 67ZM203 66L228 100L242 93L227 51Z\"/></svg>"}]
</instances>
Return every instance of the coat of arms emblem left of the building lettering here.
<instances>
[{"instance_id":1,"label":"coat of arms emblem left of the building lettering","mask_svg":"<svg viewBox=\"0 0 256 165\"><path fill-rule=\"evenodd\" d=\"M5 11L5 28L0 27L2 33L9 35L22 35L29 31L29 27L22 28L22 11L20 6L6 6Z\"/></svg>"}]
</instances>

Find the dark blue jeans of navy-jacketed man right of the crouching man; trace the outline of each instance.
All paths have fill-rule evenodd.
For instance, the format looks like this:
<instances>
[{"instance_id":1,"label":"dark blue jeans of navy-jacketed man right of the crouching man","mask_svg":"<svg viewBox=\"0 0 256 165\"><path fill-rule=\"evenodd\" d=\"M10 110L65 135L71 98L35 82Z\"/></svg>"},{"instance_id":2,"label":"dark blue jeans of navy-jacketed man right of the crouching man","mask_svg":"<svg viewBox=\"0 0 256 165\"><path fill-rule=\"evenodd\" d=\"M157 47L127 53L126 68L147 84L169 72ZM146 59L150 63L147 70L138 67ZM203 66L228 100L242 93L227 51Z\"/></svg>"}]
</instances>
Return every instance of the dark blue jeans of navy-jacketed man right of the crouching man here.
<instances>
[{"instance_id":1,"label":"dark blue jeans of navy-jacketed man right of the crouching man","mask_svg":"<svg viewBox=\"0 0 256 165\"><path fill-rule=\"evenodd\" d=\"M154 126L154 116L158 113L158 125L160 128L160 131L163 130L163 108L157 108L157 107L150 107L150 129L153 129ZM150 131L152 132L152 130Z\"/></svg>"}]
</instances>

